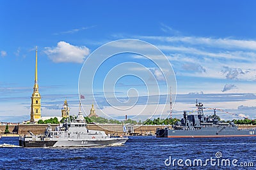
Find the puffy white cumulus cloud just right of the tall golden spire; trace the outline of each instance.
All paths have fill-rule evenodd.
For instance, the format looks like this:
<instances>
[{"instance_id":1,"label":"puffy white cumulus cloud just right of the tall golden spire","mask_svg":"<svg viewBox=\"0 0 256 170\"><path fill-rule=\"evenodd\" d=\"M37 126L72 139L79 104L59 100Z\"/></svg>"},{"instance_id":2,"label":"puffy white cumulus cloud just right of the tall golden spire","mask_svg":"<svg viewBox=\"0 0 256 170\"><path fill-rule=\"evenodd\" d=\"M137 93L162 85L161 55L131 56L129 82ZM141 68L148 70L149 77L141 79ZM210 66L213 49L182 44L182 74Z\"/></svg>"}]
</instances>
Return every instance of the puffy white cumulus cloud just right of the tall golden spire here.
<instances>
[{"instance_id":1,"label":"puffy white cumulus cloud just right of the tall golden spire","mask_svg":"<svg viewBox=\"0 0 256 170\"><path fill-rule=\"evenodd\" d=\"M45 47L44 52L53 62L82 63L90 50L86 46L74 46L65 41L60 41L56 47Z\"/></svg>"}]
</instances>

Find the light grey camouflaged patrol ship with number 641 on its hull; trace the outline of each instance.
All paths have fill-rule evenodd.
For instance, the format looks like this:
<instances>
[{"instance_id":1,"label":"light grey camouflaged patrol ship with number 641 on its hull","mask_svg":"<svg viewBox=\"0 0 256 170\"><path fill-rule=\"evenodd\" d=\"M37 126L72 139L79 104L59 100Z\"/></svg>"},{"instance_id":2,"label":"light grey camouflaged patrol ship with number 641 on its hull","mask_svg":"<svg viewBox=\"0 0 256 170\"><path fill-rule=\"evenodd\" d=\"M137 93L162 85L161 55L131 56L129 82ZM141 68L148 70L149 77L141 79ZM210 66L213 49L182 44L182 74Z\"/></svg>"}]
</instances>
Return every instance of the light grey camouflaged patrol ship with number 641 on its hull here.
<instances>
[{"instance_id":1,"label":"light grey camouflaged patrol ship with number 641 on its hull","mask_svg":"<svg viewBox=\"0 0 256 170\"><path fill-rule=\"evenodd\" d=\"M126 137L111 138L104 131L92 131L87 128L79 106L79 113L75 120L67 120L63 126L48 125L44 134L34 135L32 132L19 137L19 146L23 147L88 147L88 146L116 146L123 145Z\"/></svg>"}]
</instances>

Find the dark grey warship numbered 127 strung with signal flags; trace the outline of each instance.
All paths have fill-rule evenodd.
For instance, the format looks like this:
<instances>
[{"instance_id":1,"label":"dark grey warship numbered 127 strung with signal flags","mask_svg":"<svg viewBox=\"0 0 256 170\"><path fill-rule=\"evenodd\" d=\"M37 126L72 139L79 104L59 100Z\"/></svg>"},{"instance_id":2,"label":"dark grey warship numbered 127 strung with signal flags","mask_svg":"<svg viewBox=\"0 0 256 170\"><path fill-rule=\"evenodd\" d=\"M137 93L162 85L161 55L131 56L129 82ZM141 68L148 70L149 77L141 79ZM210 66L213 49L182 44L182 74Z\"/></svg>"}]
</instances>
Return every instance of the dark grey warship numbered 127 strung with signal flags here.
<instances>
[{"instance_id":1,"label":"dark grey warship numbered 127 strung with signal flags","mask_svg":"<svg viewBox=\"0 0 256 170\"><path fill-rule=\"evenodd\" d=\"M157 138L213 138L213 137L243 137L256 136L255 128L239 129L234 122L221 122L214 109L214 115L204 115L204 104L196 100L197 115L188 115L186 111L183 118L172 127L156 129Z\"/></svg>"}]
</instances>

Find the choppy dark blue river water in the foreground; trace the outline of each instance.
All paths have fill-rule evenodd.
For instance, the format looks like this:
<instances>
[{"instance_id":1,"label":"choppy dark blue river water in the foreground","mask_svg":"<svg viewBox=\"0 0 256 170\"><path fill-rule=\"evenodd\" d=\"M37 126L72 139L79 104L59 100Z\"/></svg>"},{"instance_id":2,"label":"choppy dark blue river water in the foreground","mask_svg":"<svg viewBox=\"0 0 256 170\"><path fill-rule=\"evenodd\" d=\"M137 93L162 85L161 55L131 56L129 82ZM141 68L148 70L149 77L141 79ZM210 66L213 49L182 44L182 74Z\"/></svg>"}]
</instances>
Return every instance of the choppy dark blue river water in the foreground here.
<instances>
[{"instance_id":1,"label":"choppy dark blue river water in the foreground","mask_svg":"<svg viewBox=\"0 0 256 170\"><path fill-rule=\"evenodd\" d=\"M0 144L19 145L18 140L1 138ZM176 159L174 167L172 163L164 164L166 159L165 163L170 163L170 156L172 163ZM183 167L177 164L179 159ZM202 166L196 162L193 166L195 159L202 160ZM215 159L212 164L211 159ZM223 159L230 160L230 166L225 166L225 162L221 166ZM237 166L232 165L234 159L237 159ZM185 161L189 164L189 160L191 166L186 166ZM247 166L242 167L241 162ZM252 164L253 167L248 167ZM256 138L131 136L124 146L0 148L0 169L256 169Z\"/></svg>"}]
</instances>

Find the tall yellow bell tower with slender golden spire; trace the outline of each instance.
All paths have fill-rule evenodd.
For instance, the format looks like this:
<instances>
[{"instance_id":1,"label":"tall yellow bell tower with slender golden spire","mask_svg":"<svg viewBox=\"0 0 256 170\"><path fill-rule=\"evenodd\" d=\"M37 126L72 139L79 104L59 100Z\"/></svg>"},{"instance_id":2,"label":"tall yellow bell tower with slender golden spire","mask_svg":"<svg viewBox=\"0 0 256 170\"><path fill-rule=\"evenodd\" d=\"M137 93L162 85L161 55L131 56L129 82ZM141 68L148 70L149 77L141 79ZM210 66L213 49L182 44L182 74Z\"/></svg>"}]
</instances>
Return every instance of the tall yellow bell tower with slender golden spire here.
<instances>
[{"instance_id":1,"label":"tall yellow bell tower with slender golden spire","mask_svg":"<svg viewBox=\"0 0 256 170\"><path fill-rule=\"evenodd\" d=\"M30 122L38 122L41 119L41 96L38 91L37 83L37 46L36 46L36 69L35 69L35 85L31 97Z\"/></svg>"}]
</instances>

